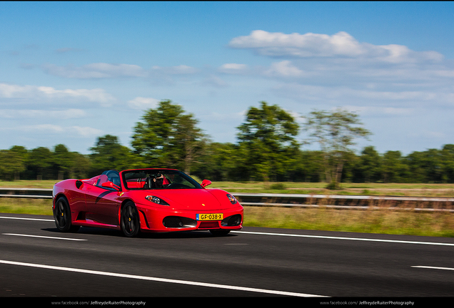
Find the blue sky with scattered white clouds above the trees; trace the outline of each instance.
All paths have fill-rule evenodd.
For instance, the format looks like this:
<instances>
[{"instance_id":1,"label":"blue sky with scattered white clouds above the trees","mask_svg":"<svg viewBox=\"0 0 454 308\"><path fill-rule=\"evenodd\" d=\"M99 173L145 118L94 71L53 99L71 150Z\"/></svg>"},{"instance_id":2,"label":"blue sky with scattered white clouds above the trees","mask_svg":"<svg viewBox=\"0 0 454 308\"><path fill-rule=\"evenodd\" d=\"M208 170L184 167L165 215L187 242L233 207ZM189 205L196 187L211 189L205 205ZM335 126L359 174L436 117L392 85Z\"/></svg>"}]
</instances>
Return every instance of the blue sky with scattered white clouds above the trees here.
<instances>
[{"instance_id":1,"label":"blue sky with scattered white clouds above the trees","mask_svg":"<svg viewBox=\"0 0 454 308\"><path fill-rule=\"evenodd\" d=\"M358 113L373 133L358 150L441 148L453 21L453 2L432 1L0 2L0 149L90 153L106 134L131 147L163 99L218 142L267 101Z\"/></svg>"}]
</instances>

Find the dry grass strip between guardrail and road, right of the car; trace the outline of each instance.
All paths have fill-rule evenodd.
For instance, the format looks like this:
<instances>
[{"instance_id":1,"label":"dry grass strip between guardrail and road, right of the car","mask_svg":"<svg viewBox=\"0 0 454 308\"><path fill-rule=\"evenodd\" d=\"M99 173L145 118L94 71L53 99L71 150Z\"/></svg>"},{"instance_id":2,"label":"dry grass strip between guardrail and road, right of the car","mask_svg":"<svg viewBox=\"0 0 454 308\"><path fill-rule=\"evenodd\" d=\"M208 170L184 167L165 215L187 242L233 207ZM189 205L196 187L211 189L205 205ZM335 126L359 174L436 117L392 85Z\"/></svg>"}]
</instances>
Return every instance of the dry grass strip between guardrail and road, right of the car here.
<instances>
[{"instance_id":1,"label":"dry grass strip between guardrail and road, right of the car","mask_svg":"<svg viewBox=\"0 0 454 308\"><path fill-rule=\"evenodd\" d=\"M452 212L245 207L244 217L250 227L454 237Z\"/></svg>"}]
</instances>

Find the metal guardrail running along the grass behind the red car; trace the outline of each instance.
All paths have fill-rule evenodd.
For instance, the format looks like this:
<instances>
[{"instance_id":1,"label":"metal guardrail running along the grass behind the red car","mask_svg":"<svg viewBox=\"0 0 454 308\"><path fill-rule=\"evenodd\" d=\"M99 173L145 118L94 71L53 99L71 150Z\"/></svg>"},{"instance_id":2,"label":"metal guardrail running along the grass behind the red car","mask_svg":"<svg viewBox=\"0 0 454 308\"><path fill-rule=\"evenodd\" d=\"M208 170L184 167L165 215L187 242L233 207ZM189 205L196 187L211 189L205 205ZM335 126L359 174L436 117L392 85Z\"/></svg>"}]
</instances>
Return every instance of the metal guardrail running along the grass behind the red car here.
<instances>
[{"instance_id":1,"label":"metal guardrail running along the grass behind the red car","mask_svg":"<svg viewBox=\"0 0 454 308\"><path fill-rule=\"evenodd\" d=\"M399 197L370 195L304 195L272 193L232 193L246 206L328 207L365 209L372 207L398 210L454 212L452 197ZM51 189L0 188L0 197L51 199Z\"/></svg>"}]
</instances>

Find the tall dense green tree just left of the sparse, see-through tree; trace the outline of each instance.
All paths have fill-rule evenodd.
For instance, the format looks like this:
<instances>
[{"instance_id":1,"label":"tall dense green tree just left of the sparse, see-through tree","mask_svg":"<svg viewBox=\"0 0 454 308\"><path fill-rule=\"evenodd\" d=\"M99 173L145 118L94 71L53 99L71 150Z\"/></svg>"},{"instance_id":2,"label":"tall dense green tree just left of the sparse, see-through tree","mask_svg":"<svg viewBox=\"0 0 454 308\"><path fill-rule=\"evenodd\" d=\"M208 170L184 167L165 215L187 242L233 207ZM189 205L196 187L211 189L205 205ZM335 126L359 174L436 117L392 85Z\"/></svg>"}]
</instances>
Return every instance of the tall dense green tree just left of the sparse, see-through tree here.
<instances>
[{"instance_id":1,"label":"tall dense green tree just left of the sparse, see-through tree","mask_svg":"<svg viewBox=\"0 0 454 308\"><path fill-rule=\"evenodd\" d=\"M248 169L244 171L251 178L265 181L284 175L286 165L291 163L291 151L299 147L298 129L295 118L277 105L262 101L261 108L249 108L237 134L248 158Z\"/></svg>"}]
</instances>

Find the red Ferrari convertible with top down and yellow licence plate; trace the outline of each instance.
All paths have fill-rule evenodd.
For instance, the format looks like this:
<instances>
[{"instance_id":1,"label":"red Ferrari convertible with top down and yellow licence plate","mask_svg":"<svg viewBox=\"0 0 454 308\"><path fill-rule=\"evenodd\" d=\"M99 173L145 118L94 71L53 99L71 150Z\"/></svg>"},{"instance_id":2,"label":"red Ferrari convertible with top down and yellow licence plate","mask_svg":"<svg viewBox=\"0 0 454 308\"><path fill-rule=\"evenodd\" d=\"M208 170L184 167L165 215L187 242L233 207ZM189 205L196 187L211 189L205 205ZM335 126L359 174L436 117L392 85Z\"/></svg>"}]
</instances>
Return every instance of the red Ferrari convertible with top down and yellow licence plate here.
<instances>
[{"instance_id":1,"label":"red Ferrari convertible with top down and yellow licence plate","mask_svg":"<svg viewBox=\"0 0 454 308\"><path fill-rule=\"evenodd\" d=\"M79 227L139 232L209 230L227 235L240 230L243 207L233 195L206 189L174 169L107 170L86 180L63 180L54 185L56 227L76 232Z\"/></svg>"}]
</instances>

